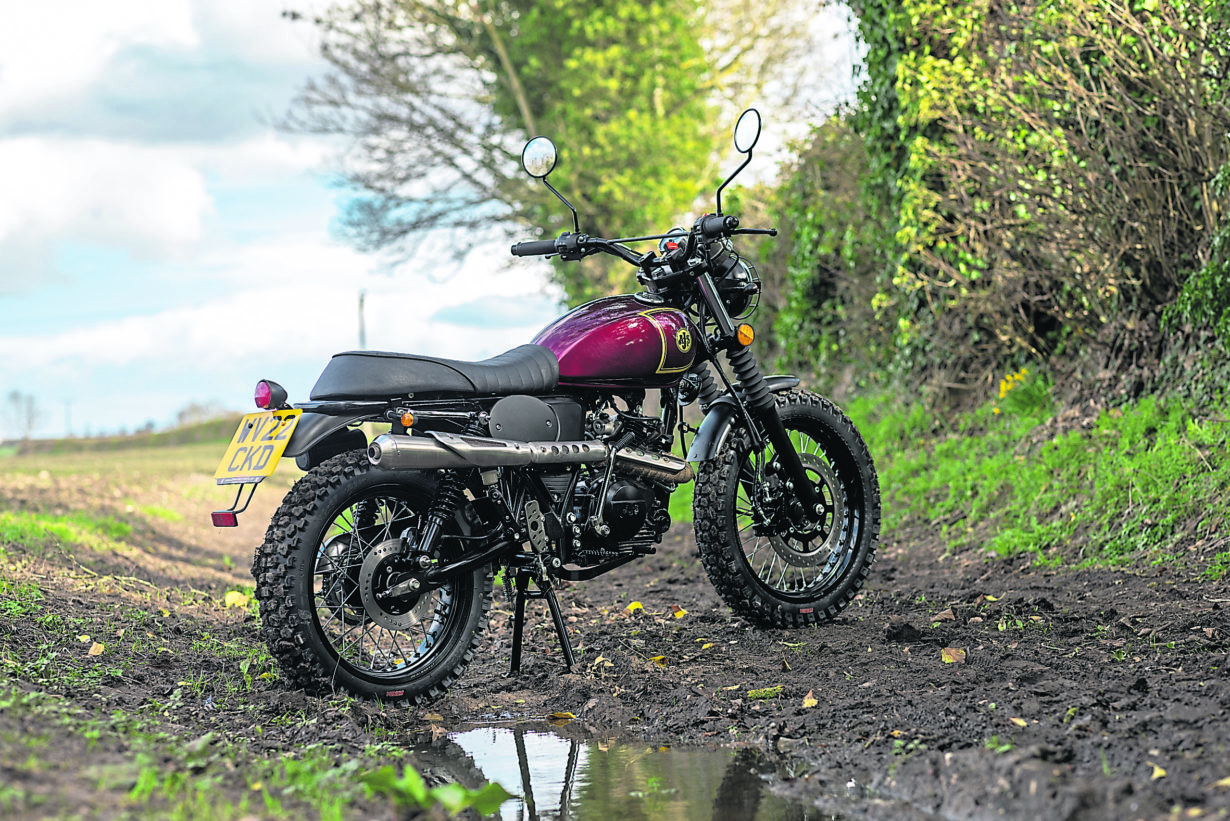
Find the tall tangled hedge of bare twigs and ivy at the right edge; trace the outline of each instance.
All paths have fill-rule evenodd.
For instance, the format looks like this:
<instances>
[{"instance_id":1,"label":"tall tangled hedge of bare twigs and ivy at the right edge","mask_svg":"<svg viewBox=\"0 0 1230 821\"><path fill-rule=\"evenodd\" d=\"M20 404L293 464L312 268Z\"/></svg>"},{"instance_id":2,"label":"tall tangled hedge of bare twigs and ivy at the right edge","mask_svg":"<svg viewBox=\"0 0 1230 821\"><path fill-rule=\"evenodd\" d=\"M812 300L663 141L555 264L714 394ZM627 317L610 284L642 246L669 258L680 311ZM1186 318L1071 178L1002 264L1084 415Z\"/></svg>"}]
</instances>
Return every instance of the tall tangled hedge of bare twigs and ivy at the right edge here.
<instances>
[{"instance_id":1,"label":"tall tangled hedge of bare twigs and ivy at the right edge","mask_svg":"<svg viewBox=\"0 0 1230 821\"><path fill-rule=\"evenodd\" d=\"M1230 4L854 5L867 191L891 215L876 297L913 375L970 389L1026 359L1149 368L1193 272L1209 287L1189 319L1230 304L1214 182L1230 161Z\"/></svg>"}]
</instances>

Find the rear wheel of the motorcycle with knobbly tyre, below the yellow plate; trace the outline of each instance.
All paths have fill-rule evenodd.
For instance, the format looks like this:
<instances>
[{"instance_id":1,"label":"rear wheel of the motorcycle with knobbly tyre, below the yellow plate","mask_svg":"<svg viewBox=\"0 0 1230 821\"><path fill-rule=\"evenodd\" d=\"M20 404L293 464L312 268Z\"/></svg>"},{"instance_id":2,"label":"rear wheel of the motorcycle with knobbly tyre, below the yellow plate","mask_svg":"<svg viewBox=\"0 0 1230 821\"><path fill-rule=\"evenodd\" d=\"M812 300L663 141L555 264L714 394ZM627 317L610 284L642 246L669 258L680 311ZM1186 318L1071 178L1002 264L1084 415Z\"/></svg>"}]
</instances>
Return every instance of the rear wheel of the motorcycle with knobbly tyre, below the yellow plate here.
<instances>
[{"instance_id":1,"label":"rear wheel of the motorcycle with knobbly tyre, below the yellow plate","mask_svg":"<svg viewBox=\"0 0 1230 821\"><path fill-rule=\"evenodd\" d=\"M363 452L295 483L257 549L262 636L309 692L421 704L444 694L474 657L491 607L491 569L421 595L389 590L417 570L402 534L422 529L429 475L374 470ZM454 559L460 517L430 559ZM443 551L443 553L442 553Z\"/></svg>"}]
</instances>

